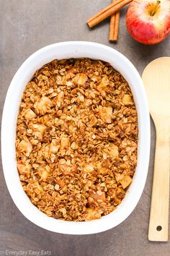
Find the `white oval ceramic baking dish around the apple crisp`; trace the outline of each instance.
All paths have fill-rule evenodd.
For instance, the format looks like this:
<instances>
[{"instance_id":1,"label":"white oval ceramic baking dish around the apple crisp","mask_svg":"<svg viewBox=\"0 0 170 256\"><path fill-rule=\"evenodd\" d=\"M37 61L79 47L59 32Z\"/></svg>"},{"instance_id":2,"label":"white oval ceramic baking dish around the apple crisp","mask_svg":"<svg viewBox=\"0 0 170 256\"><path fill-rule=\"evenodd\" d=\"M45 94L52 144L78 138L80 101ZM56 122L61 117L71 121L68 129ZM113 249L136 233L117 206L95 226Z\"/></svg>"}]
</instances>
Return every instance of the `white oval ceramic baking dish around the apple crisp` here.
<instances>
[{"instance_id":1,"label":"white oval ceramic baking dish around the apple crisp","mask_svg":"<svg viewBox=\"0 0 170 256\"><path fill-rule=\"evenodd\" d=\"M130 185L125 199L107 216L87 222L61 221L50 218L38 210L22 189L17 172L15 156L16 121L19 103L27 82L30 81L35 70L53 59L69 59L89 57L108 61L128 81L133 92L138 111L138 166L135 171L133 183ZM150 153L150 119L146 93L143 82L133 64L118 51L99 43L91 42L64 42L55 43L41 48L32 54L22 66L9 86L4 103L1 124L1 154L4 176L9 193L17 208L30 221L44 229L63 234L94 234L120 224L127 218L137 205L148 174L148 161Z\"/></svg>"}]
</instances>

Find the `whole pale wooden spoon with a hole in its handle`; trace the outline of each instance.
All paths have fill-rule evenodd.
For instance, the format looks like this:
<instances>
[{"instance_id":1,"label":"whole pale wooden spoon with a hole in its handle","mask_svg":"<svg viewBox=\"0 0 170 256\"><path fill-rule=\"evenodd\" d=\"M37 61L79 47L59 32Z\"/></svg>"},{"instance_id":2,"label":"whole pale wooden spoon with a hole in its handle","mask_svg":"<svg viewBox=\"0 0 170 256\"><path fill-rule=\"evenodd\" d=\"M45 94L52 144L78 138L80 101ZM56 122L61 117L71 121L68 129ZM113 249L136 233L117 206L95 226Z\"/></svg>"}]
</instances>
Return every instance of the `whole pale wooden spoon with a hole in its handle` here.
<instances>
[{"instance_id":1,"label":"whole pale wooden spoon with a hole in its handle","mask_svg":"<svg viewBox=\"0 0 170 256\"><path fill-rule=\"evenodd\" d=\"M151 116L156 126L156 153L148 239L168 241L170 167L170 57L151 61L143 71Z\"/></svg>"}]
</instances>

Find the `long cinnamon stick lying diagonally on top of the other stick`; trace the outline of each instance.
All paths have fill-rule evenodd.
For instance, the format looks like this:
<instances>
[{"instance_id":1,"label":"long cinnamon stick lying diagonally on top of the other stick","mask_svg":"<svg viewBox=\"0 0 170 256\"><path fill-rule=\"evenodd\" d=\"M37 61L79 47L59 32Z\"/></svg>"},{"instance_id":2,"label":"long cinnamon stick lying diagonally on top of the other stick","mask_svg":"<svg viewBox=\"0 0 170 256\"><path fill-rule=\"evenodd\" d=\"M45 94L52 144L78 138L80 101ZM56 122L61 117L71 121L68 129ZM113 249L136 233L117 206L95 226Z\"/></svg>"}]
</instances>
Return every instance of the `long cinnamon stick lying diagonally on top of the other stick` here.
<instances>
[{"instance_id":1,"label":"long cinnamon stick lying diagonally on top of the other stick","mask_svg":"<svg viewBox=\"0 0 170 256\"><path fill-rule=\"evenodd\" d=\"M91 17L87 20L87 24L89 27L94 27L99 22L102 22L110 15L114 14L115 12L119 11L122 7L125 7L126 4L129 4L133 0L116 0L114 3L109 4L108 7L102 9L102 11L98 12L94 17Z\"/></svg>"}]
</instances>

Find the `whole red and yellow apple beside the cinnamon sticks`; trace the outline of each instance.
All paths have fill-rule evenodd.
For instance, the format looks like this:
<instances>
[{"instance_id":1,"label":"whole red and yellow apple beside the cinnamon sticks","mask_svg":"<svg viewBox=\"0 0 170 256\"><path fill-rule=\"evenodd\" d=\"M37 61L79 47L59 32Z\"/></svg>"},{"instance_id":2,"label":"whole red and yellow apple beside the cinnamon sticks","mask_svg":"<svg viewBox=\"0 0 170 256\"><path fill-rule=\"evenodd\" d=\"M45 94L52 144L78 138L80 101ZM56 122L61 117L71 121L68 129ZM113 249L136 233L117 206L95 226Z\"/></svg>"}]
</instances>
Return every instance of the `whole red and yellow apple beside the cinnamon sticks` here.
<instances>
[{"instance_id":1,"label":"whole red and yellow apple beside the cinnamon sticks","mask_svg":"<svg viewBox=\"0 0 170 256\"><path fill-rule=\"evenodd\" d=\"M155 44L170 33L169 0L133 0L128 7L126 25L140 43Z\"/></svg>"}]
</instances>

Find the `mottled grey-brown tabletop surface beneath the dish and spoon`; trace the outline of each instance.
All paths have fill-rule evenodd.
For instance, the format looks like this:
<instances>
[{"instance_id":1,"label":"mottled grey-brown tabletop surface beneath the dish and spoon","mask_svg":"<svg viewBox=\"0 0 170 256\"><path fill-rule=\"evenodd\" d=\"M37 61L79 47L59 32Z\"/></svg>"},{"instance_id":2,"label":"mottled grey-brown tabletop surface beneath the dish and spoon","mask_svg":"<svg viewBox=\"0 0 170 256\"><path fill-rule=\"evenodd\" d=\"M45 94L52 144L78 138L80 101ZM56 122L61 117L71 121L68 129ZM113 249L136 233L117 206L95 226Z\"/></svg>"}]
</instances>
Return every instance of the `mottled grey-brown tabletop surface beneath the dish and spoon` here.
<instances>
[{"instance_id":1,"label":"mottled grey-brown tabletop surface beneath the dish and spoon","mask_svg":"<svg viewBox=\"0 0 170 256\"><path fill-rule=\"evenodd\" d=\"M0 111L9 83L22 62L37 49L66 40L88 40L117 49L142 74L149 61L170 56L170 38L156 46L144 46L130 37L125 27L126 8L121 12L120 38L109 43L109 22L90 30L87 18L110 0L0 0ZM148 219L155 150L151 122L151 160L140 202L130 217L115 229L88 236L68 236L45 231L30 223L17 210L0 172L0 255L41 249L56 256L168 256L170 242L148 242ZM8 251L9 250L9 251ZM41 252L41 255L45 252ZM12 253L11 253L12 254Z\"/></svg>"}]
</instances>

